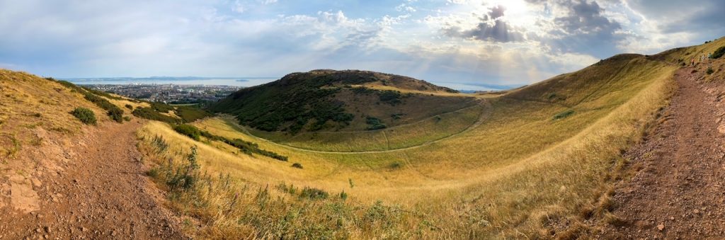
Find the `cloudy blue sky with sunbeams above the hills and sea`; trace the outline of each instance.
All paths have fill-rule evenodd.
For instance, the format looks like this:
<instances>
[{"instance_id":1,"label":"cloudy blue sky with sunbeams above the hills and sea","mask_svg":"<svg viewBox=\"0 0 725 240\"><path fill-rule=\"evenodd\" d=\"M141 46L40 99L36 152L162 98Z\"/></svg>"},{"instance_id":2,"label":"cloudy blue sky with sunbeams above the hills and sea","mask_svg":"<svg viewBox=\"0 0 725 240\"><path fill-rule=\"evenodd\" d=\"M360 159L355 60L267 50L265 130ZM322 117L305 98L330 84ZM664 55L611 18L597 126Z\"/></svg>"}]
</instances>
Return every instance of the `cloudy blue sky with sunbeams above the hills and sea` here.
<instances>
[{"instance_id":1,"label":"cloudy blue sky with sunbeams above the hills and sea","mask_svg":"<svg viewBox=\"0 0 725 240\"><path fill-rule=\"evenodd\" d=\"M315 69L521 86L725 36L725 1L0 0L0 67L56 78Z\"/></svg>"}]
</instances>

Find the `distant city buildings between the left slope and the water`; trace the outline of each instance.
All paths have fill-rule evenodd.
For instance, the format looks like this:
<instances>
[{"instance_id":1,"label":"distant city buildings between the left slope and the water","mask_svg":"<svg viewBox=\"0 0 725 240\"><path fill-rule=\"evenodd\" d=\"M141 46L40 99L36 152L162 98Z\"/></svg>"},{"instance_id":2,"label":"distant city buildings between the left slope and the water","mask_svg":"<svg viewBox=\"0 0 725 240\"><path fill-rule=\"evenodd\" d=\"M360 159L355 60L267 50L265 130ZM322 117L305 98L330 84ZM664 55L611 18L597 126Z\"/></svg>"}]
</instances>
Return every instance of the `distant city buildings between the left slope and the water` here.
<instances>
[{"instance_id":1,"label":"distant city buildings between the left slope and the water","mask_svg":"<svg viewBox=\"0 0 725 240\"><path fill-rule=\"evenodd\" d=\"M179 84L88 84L83 85L99 91L170 104L203 104L216 102L225 96L244 88L224 85L179 85Z\"/></svg>"}]
</instances>

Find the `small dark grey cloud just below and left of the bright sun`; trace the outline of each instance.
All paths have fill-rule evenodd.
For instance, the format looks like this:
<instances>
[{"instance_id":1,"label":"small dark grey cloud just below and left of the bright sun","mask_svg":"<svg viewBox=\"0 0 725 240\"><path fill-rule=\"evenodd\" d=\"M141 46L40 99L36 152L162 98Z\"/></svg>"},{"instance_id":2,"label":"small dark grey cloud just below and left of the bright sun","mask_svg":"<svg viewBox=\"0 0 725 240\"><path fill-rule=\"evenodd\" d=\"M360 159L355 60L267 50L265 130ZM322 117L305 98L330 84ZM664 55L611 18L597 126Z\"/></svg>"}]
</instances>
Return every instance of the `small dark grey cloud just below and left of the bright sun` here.
<instances>
[{"instance_id":1,"label":"small dark grey cloud just below and left of the bright sun","mask_svg":"<svg viewBox=\"0 0 725 240\"><path fill-rule=\"evenodd\" d=\"M502 6L492 7L486 15L479 18L481 22L476 28L461 30L455 26L448 26L443 32L450 37L471 38L480 41L512 42L523 41L525 38L522 30L509 25L502 17L505 8Z\"/></svg>"}]
</instances>

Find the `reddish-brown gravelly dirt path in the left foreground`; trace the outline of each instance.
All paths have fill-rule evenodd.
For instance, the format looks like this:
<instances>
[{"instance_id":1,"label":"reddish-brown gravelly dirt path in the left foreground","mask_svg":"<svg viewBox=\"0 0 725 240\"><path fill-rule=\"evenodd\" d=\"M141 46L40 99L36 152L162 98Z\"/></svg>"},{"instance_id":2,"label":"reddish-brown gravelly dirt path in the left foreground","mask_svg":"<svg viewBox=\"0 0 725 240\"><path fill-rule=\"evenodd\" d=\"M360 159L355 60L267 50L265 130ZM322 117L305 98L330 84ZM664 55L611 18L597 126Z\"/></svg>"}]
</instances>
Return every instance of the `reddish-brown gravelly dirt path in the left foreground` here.
<instances>
[{"instance_id":1,"label":"reddish-brown gravelly dirt path in the left foreground","mask_svg":"<svg viewBox=\"0 0 725 240\"><path fill-rule=\"evenodd\" d=\"M158 204L162 192L144 177L140 124L104 123L62 150L52 144L61 139L49 139L30 157L43 165L28 189L34 205L17 205L31 196L1 207L0 239L184 239L178 220ZM56 151L63 161L45 162Z\"/></svg>"}]
</instances>

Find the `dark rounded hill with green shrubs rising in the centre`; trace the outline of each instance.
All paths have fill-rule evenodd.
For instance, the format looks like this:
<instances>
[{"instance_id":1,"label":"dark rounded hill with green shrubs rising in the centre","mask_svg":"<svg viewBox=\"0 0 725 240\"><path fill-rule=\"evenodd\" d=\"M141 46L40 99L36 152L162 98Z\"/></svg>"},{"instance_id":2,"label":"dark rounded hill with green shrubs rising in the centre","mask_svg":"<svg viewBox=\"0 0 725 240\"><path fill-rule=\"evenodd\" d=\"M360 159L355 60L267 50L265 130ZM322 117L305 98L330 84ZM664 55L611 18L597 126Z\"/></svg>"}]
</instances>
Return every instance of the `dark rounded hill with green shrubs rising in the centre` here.
<instances>
[{"instance_id":1,"label":"dark rounded hill with green shrubs rising in the centre","mask_svg":"<svg viewBox=\"0 0 725 240\"><path fill-rule=\"evenodd\" d=\"M262 131L365 131L470 107L473 99L401 75L312 70L241 89L209 109Z\"/></svg>"}]
</instances>

